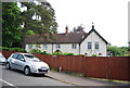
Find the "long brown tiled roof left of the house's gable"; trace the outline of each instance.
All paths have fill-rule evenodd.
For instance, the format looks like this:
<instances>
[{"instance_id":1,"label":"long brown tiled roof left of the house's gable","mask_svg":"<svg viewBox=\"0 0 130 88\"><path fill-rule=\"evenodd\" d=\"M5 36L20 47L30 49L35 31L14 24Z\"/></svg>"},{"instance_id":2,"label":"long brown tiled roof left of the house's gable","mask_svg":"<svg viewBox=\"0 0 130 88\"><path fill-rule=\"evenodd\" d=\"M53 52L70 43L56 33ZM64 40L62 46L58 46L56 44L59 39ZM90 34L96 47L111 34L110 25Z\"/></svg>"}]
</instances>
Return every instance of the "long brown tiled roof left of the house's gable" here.
<instances>
[{"instance_id":1,"label":"long brown tiled roof left of the house's gable","mask_svg":"<svg viewBox=\"0 0 130 88\"><path fill-rule=\"evenodd\" d=\"M26 38L26 43L79 43L86 36L87 33L57 34L53 40L47 40L42 36L31 35Z\"/></svg>"}]
</instances>

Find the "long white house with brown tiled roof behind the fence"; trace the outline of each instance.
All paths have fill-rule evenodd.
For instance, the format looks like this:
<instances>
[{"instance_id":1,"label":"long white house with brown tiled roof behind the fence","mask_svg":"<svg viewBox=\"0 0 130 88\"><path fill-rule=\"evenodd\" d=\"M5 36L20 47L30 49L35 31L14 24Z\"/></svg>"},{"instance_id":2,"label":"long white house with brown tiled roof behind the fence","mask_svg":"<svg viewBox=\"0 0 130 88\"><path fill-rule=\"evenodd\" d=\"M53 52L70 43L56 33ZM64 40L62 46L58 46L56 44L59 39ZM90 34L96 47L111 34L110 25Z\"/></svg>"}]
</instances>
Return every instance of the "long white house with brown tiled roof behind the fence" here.
<instances>
[{"instance_id":1,"label":"long white house with brown tiled roof behind the fence","mask_svg":"<svg viewBox=\"0 0 130 88\"><path fill-rule=\"evenodd\" d=\"M107 41L94 29L89 33L68 33L55 35L54 40L46 40L39 35L31 35L26 38L26 50L39 48L41 51L53 53L56 50L62 52L72 52L75 54L102 54L106 55Z\"/></svg>"}]
</instances>

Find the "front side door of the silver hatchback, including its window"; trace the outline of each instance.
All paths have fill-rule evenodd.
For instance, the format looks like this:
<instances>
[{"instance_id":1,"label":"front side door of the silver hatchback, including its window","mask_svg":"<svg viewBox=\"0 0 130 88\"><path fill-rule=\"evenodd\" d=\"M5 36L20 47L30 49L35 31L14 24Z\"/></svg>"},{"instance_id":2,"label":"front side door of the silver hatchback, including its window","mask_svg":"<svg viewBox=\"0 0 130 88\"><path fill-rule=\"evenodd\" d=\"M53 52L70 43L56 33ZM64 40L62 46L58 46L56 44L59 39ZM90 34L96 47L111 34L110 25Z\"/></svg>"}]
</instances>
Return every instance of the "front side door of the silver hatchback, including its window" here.
<instances>
[{"instance_id":1,"label":"front side door of the silver hatchback, including its window","mask_svg":"<svg viewBox=\"0 0 130 88\"><path fill-rule=\"evenodd\" d=\"M17 56L17 70L23 71L25 66L25 59L23 56L23 54L18 54Z\"/></svg>"}]
</instances>

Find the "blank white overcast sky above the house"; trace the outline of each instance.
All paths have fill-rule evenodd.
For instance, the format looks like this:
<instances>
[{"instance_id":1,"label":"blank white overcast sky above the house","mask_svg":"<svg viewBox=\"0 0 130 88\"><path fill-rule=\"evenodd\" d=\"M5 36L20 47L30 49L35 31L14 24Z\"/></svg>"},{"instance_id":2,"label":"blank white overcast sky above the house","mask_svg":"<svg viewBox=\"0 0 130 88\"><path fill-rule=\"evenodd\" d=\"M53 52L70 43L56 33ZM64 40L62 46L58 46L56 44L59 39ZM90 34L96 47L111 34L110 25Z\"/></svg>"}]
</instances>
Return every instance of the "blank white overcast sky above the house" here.
<instances>
[{"instance_id":1,"label":"blank white overcast sky above the house","mask_svg":"<svg viewBox=\"0 0 130 88\"><path fill-rule=\"evenodd\" d=\"M57 32L83 25L94 28L112 46L128 46L128 2L130 0L47 0L55 10Z\"/></svg>"}]
</instances>

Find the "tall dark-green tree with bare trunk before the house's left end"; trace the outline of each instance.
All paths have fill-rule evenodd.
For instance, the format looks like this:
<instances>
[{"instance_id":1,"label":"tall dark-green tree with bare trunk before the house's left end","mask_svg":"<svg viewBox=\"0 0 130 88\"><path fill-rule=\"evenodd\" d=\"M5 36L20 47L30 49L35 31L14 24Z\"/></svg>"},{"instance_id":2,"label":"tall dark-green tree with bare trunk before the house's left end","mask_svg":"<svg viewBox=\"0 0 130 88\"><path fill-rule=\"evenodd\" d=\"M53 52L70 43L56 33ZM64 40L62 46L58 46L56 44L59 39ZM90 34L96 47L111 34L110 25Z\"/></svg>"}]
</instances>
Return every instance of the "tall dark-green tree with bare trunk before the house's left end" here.
<instances>
[{"instance_id":1,"label":"tall dark-green tree with bare trunk before the house's left end","mask_svg":"<svg viewBox=\"0 0 130 88\"><path fill-rule=\"evenodd\" d=\"M20 18L24 23L23 48L25 48L27 30L34 30L46 38L52 37L52 34L56 34L57 23L55 22L55 13L49 2L41 2L40 4L22 2L22 4L27 8L26 11L22 12Z\"/></svg>"}]
</instances>

